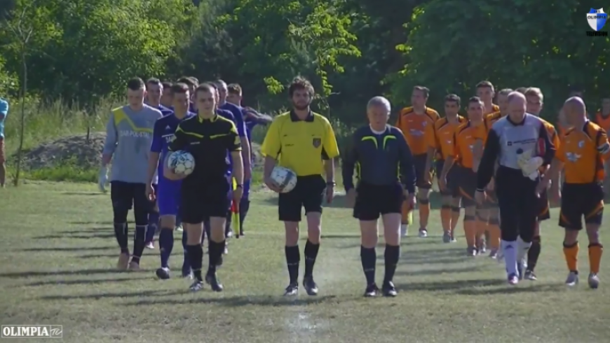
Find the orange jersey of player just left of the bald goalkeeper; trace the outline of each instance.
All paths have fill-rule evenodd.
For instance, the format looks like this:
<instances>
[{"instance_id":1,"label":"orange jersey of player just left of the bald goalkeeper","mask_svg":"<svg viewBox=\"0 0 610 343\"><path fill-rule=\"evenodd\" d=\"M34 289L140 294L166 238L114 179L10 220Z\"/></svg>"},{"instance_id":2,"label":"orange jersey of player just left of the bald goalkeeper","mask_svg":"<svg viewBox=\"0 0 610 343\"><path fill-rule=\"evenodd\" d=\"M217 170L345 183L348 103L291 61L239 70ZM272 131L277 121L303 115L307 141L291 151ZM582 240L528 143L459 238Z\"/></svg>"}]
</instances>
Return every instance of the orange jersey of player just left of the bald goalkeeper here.
<instances>
[{"instance_id":1,"label":"orange jersey of player just left of the bald goalkeeper","mask_svg":"<svg viewBox=\"0 0 610 343\"><path fill-rule=\"evenodd\" d=\"M473 125L472 122L463 123L456 129L454 137L454 149L450 154L459 165L472 168L474 165L474 148L478 140L483 140L483 146L487 139L487 125L485 122Z\"/></svg>"}]
</instances>

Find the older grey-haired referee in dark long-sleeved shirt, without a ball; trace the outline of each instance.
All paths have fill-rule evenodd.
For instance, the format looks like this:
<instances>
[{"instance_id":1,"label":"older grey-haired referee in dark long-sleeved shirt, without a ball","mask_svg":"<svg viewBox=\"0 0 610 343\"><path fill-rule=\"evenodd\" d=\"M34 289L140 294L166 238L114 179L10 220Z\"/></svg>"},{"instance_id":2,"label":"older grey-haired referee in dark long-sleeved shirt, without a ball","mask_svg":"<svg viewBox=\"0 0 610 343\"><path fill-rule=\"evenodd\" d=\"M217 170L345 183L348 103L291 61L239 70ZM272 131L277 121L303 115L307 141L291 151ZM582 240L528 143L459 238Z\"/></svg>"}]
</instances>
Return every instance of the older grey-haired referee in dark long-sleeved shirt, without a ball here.
<instances>
[{"instance_id":1,"label":"older grey-haired referee in dark long-sleeved shirt, without a ball","mask_svg":"<svg viewBox=\"0 0 610 343\"><path fill-rule=\"evenodd\" d=\"M386 275L381 287L385 296L395 297L392 281L400 257L400 209L402 202L415 202L415 170L411 150L400 129L388 125L391 105L384 97L367 104L369 125L353 135L353 144L343 160L343 182L353 216L360 220L362 246L360 259L367 279L366 297L379 292L375 283L377 263L377 220L384 222ZM353 184L355 165L359 165L358 185ZM399 172L400 171L400 172Z\"/></svg>"}]
</instances>

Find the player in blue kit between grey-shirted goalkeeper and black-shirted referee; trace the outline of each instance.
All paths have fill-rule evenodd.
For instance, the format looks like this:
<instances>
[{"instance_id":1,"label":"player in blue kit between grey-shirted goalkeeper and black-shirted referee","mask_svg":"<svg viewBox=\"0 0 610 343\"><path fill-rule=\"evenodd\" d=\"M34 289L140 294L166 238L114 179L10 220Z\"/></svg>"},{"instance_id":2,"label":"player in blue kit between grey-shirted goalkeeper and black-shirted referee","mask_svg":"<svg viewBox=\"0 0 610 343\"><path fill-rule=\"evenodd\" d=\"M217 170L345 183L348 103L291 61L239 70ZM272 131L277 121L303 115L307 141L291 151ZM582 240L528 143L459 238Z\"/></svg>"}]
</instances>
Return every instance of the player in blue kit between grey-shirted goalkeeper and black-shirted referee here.
<instances>
[{"instance_id":1,"label":"player in blue kit between grey-shirted goalkeeper and black-shirted referee","mask_svg":"<svg viewBox=\"0 0 610 343\"><path fill-rule=\"evenodd\" d=\"M172 85L172 107L174 112L169 116L156 121L149 158L147 195L151 201L156 200L161 216L161 232L159 233L159 252L161 254L161 267L156 270L159 279L170 278L168 261L174 247L173 230L176 226L176 216L179 211L180 186L182 181L172 181L163 176L163 161L168 155L168 146L175 139L175 132L185 118L191 118L194 113L189 112L189 87L184 83ZM161 163L159 163L161 161ZM155 173L158 172L158 187L155 190L152 183ZM188 268L187 268L188 267ZM187 269L187 270L184 270ZM191 273L190 265L182 269L183 275Z\"/></svg>"}]
</instances>

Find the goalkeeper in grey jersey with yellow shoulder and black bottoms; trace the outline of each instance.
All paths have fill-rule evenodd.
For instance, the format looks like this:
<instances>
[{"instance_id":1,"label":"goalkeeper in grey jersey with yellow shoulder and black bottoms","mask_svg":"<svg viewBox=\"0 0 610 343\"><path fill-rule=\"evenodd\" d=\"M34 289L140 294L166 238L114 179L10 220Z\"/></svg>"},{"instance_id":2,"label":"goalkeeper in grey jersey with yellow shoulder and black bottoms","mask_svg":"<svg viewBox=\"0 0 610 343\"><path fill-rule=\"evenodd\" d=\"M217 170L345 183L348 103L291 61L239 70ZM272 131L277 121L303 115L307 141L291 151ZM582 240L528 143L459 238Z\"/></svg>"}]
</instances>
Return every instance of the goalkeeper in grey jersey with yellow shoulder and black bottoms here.
<instances>
[{"instance_id":1,"label":"goalkeeper in grey jersey with yellow shoulder and black bottoms","mask_svg":"<svg viewBox=\"0 0 610 343\"><path fill-rule=\"evenodd\" d=\"M140 269L140 258L144 251L149 211L154 207L154 203L146 196L147 183L156 183L156 179L148 179L149 151L154 124L162 114L158 109L144 104L146 85L142 79L129 80L127 87L129 104L112 110L106 126L107 136L102 152L99 184L104 190L107 166L112 161L110 196L114 214L114 235L121 248L118 269L128 267L127 215L133 206L135 236L129 269L137 270Z\"/></svg>"}]
</instances>

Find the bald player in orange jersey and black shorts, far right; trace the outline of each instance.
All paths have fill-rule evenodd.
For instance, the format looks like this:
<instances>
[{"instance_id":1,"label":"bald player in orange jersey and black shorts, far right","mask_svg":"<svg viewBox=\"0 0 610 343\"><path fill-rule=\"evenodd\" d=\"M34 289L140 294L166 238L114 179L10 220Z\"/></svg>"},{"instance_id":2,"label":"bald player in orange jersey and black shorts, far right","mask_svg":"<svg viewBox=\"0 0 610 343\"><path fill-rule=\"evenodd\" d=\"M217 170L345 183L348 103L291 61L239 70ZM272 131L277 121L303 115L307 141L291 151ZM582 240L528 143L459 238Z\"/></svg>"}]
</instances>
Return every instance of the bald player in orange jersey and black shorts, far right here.
<instances>
[{"instance_id":1,"label":"bald player in orange jersey and black shorts, far right","mask_svg":"<svg viewBox=\"0 0 610 343\"><path fill-rule=\"evenodd\" d=\"M564 255L569 270L567 286L578 283L578 232L585 230L589 239L590 288L599 286L599 265L603 246L599 242L599 227L604 214L604 170L599 168L610 159L610 144L606 132L587 117L587 108L580 97L569 98L562 109L570 125L551 164L550 171L538 186L542 193L549 181L562 168L565 181L559 225L565 229Z\"/></svg>"}]
</instances>

